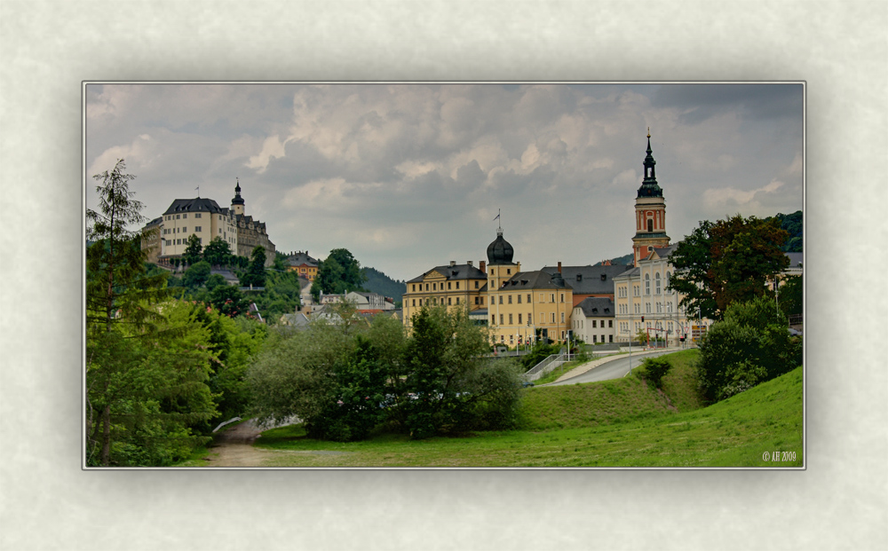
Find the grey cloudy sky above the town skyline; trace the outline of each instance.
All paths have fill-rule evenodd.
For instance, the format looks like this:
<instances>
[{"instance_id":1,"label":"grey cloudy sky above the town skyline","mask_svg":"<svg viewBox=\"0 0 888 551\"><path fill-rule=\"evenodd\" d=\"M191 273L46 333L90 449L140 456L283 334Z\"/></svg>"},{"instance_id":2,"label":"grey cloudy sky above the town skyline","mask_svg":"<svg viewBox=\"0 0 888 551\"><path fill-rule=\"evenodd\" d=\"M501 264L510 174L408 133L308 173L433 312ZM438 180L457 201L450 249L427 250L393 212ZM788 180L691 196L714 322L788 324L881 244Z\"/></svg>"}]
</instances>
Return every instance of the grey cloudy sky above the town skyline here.
<instances>
[{"instance_id":1,"label":"grey cloudy sky above the town skyline","mask_svg":"<svg viewBox=\"0 0 888 551\"><path fill-rule=\"evenodd\" d=\"M485 259L502 211L526 270L631 251L646 133L667 232L802 209L801 84L88 84L87 206L123 158L143 214L248 214L279 251L411 279Z\"/></svg>"}]
</instances>

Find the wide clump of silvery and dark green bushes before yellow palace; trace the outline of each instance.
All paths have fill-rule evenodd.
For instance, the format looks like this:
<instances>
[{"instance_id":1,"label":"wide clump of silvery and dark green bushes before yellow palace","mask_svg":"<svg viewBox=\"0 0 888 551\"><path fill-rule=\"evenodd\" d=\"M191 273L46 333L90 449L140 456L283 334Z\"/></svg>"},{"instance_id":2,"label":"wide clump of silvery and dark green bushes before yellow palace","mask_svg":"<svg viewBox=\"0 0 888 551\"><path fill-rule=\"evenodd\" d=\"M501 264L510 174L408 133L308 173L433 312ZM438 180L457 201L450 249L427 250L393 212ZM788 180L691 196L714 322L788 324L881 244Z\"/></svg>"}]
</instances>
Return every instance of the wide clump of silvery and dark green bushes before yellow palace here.
<instances>
[{"instance_id":1,"label":"wide clump of silvery and dark green bushes before yellow palace","mask_svg":"<svg viewBox=\"0 0 888 551\"><path fill-rule=\"evenodd\" d=\"M261 419L297 416L331 440L367 437L380 421L422 438L514 420L517 366L480 358L487 335L466 312L424 309L408 338L398 319L368 327L351 311L337 304L336 323L274 331L248 372Z\"/></svg>"}]
</instances>

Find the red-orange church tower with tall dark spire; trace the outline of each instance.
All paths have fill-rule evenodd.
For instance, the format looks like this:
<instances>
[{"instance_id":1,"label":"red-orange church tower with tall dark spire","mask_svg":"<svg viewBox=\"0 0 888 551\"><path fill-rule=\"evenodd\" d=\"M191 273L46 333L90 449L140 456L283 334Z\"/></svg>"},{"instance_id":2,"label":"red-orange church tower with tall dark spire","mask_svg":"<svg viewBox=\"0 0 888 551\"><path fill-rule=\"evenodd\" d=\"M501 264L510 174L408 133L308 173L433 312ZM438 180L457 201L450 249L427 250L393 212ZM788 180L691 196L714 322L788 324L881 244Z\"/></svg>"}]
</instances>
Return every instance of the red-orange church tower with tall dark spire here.
<instances>
[{"instance_id":1,"label":"red-orange church tower with tall dark spire","mask_svg":"<svg viewBox=\"0 0 888 551\"><path fill-rule=\"evenodd\" d=\"M656 165L651 154L651 129L647 129L647 156L645 179L638 188L635 199L635 237L632 238L634 264L644 260L653 248L669 247L666 235L666 201L663 190L657 184Z\"/></svg>"}]
</instances>

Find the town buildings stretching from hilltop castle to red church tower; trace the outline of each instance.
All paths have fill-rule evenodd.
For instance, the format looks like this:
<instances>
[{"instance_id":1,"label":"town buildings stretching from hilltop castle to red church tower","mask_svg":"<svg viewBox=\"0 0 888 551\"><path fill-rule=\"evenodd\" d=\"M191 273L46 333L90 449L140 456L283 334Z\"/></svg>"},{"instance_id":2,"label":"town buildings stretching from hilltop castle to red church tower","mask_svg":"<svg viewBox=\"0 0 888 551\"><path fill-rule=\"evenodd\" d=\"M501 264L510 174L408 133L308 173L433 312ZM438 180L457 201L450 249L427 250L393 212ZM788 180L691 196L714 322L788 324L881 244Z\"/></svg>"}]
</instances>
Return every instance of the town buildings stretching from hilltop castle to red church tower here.
<instances>
[{"instance_id":1,"label":"town buildings stretching from hilltop castle to red church tower","mask_svg":"<svg viewBox=\"0 0 888 551\"><path fill-rule=\"evenodd\" d=\"M369 322L380 314L395 316L409 330L417 311L440 304L450 310L468 309L476 324L490 328L492 343L510 348L540 340L628 343L641 335L647 342L666 346L696 342L712 320L688 311L680 304L683 296L670 287L675 273L670 256L678 243L667 234L666 200L657 181L650 140L648 131L628 265L609 260L586 265L559 262L528 271L522 269L500 224L485 259L477 265L472 260L464 264L450 260L422 272L408 280L399 305L395 297L362 290L315 297L312 287L321 261L310 256L308 250L299 250L290 252L284 265L286 271L298 276L300 304L296 311L275 321L305 327L313 318L335 316L330 307L348 302L361 319ZM163 216L142 228L142 247L147 249L148 261L168 268L178 265L176 259L185 252L188 237L194 235L202 245L214 238L225 240L237 256L249 257L254 248L261 246L266 251L266 267L271 266L276 254L274 243L266 224L245 213L245 204L239 181L229 208L201 197L173 201ZM498 214L494 221L500 218ZM802 253L786 255L789 269L785 274L801 275ZM236 280L230 272L219 272L229 283ZM251 308L255 311L255 304Z\"/></svg>"}]
</instances>

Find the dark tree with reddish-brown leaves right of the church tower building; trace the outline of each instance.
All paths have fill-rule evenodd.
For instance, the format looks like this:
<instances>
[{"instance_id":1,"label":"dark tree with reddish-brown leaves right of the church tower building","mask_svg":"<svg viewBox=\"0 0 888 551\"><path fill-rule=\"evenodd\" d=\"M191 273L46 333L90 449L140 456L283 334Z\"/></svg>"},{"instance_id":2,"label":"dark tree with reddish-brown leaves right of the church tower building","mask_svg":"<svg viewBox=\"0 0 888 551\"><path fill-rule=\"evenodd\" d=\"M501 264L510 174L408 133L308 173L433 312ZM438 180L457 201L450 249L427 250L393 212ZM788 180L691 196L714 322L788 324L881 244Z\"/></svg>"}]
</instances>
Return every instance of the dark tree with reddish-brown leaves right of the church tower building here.
<instances>
[{"instance_id":1,"label":"dark tree with reddish-brown leaves right of the church tower building","mask_svg":"<svg viewBox=\"0 0 888 551\"><path fill-rule=\"evenodd\" d=\"M789 265L781 245L787 232L777 219L732 216L703 221L670 256L676 272L669 290L681 305L704 318L720 319L734 302L765 295L765 282Z\"/></svg>"}]
</instances>

